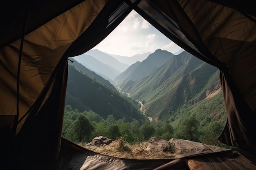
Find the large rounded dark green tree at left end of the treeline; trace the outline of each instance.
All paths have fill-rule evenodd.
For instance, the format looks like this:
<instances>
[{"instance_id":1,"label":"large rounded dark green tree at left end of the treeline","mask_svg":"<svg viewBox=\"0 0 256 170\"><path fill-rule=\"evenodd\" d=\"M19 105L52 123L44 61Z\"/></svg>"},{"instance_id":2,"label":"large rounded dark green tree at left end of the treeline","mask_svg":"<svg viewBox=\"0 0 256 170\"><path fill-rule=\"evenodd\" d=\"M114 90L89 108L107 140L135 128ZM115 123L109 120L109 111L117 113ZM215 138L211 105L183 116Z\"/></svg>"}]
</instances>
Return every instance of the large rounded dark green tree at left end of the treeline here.
<instances>
[{"instance_id":1,"label":"large rounded dark green tree at left end of the treeline","mask_svg":"<svg viewBox=\"0 0 256 170\"><path fill-rule=\"evenodd\" d=\"M89 119L85 115L79 114L67 130L66 137L74 142L89 141L93 130L94 127L90 123Z\"/></svg>"}]
</instances>

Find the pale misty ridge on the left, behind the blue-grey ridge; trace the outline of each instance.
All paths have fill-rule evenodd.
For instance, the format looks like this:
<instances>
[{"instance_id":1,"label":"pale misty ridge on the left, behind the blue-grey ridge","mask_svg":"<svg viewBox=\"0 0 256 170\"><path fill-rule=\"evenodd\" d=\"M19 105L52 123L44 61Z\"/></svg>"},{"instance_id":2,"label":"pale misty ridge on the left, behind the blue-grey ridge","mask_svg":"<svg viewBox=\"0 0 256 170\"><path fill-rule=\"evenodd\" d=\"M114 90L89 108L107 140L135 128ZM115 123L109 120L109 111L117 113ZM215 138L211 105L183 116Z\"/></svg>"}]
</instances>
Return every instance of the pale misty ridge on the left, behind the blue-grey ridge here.
<instances>
[{"instance_id":1,"label":"pale misty ridge on the left, behind the blue-grey ridge","mask_svg":"<svg viewBox=\"0 0 256 170\"><path fill-rule=\"evenodd\" d=\"M94 57L95 59L101 61L102 63L107 64L107 65L111 66L112 68L115 68L119 72L123 72L123 71L126 70L126 68L129 67L128 64L124 64L122 62L119 62L117 59L115 59L111 55L103 53L99 50L90 50L90 51L87 51L84 54Z\"/></svg>"}]
</instances>

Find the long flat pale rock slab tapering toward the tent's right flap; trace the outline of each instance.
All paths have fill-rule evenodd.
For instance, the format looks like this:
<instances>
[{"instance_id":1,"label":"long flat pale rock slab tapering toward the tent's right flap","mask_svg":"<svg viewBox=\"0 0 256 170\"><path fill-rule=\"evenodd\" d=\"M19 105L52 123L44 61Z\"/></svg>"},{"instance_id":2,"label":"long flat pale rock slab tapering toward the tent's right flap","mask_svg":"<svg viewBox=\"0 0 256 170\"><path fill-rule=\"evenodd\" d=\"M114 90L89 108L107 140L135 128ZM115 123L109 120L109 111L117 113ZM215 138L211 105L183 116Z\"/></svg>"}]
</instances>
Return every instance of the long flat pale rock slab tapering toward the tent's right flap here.
<instances>
[{"instance_id":1,"label":"long flat pale rock slab tapering toward the tent's right flap","mask_svg":"<svg viewBox=\"0 0 256 170\"><path fill-rule=\"evenodd\" d=\"M206 153L206 152L218 152L227 150L225 148L220 148L218 146L211 146L202 144L199 142L188 141L184 139L170 139L170 143L175 144L175 153L182 157L188 155L194 155L198 153Z\"/></svg>"}]
</instances>

